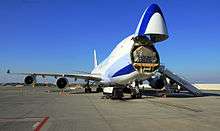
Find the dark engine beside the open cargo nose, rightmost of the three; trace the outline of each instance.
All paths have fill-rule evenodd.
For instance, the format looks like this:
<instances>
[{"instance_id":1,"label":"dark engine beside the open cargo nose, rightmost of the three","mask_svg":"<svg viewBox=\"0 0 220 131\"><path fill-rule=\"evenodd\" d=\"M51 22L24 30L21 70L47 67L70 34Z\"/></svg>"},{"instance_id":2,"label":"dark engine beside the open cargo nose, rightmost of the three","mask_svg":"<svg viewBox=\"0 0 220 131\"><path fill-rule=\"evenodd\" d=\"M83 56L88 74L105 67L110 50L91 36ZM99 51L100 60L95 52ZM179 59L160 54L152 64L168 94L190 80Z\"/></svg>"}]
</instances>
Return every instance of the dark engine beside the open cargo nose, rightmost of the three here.
<instances>
[{"instance_id":1,"label":"dark engine beside the open cargo nose, rightmost of the three","mask_svg":"<svg viewBox=\"0 0 220 131\"><path fill-rule=\"evenodd\" d=\"M162 89L165 86L165 80L162 77L150 78L148 81L154 89Z\"/></svg>"}]
</instances>

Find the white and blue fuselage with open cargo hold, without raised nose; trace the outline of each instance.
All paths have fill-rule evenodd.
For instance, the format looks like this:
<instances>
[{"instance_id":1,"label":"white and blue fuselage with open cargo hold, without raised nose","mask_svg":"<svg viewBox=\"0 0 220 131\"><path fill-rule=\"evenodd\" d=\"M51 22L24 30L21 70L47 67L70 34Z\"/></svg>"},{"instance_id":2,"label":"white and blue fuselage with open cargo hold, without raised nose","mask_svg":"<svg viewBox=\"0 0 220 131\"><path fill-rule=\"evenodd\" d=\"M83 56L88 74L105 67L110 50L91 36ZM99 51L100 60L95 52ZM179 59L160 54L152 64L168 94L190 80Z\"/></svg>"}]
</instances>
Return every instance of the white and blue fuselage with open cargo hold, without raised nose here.
<instances>
[{"instance_id":1,"label":"white and blue fuselage with open cargo hold, without raised nose","mask_svg":"<svg viewBox=\"0 0 220 131\"><path fill-rule=\"evenodd\" d=\"M100 63L93 74L101 74L102 83L125 84L147 79L159 67L159 54L147 37L128 36Z\"/></svg>"}]
</instances>

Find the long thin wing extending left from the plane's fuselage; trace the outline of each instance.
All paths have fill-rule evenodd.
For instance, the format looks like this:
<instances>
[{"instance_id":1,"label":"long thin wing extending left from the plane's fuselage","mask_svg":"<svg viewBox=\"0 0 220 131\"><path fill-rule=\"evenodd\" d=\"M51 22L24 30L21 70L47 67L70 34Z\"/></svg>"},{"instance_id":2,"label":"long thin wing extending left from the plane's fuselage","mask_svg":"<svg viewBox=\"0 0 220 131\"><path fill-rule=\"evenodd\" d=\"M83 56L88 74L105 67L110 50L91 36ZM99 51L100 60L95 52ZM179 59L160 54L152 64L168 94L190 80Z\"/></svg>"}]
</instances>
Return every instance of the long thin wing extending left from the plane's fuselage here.
<instances>
[{"instance_id":1,"label":"long thin wing extending left from the plane's fuselage","mask_svg":"<svg viewBox=\"0 0 220 131\"><path fill-rule=\"evenodd\" d=\"M101 81L101 76L99 74L90 74L90 73L11 73L10 70L7 71L8 74L15 75L30 75L30 76L42 76L43 78L46 76L51 77L69 77L75 79L84 79L84 80L93 80L93 81Z\"/></svg>"}]
</instances>

